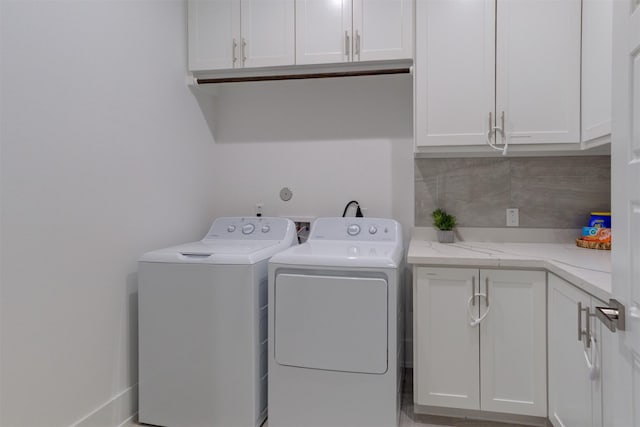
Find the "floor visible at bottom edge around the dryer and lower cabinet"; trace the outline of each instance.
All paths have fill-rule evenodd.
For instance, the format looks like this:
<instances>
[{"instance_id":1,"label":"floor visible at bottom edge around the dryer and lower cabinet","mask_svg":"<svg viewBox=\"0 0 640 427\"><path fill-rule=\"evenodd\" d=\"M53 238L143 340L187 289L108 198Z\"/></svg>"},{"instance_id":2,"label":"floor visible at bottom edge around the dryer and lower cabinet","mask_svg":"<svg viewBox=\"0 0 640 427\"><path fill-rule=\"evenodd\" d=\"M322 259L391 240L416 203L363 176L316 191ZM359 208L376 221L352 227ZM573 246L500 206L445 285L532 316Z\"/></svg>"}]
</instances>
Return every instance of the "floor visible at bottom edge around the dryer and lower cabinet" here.
<instances>
[{"instance_id":1,"label":"floor visible at bottom edge around the dryer and lower cabinet","mask_svg":"<svg viewBox=\"0 0 640 427\"><path fill-rule=\"evenodd\" d=\"M490 421L467 420L460 418L435 417L428 415L416 415L413 413L413 371L407 370L405 374L405 384L402 393L402 413L400 414L399 427L522 427L517 424L496 423ZM131 421L121 425L120 427L140 427L144 424L138 424ZM262 427L269 427L267 420ZM304 426L300 426L304 427ZM349 427L349 426L345 426Z\"/></svg>"}]
</instances>

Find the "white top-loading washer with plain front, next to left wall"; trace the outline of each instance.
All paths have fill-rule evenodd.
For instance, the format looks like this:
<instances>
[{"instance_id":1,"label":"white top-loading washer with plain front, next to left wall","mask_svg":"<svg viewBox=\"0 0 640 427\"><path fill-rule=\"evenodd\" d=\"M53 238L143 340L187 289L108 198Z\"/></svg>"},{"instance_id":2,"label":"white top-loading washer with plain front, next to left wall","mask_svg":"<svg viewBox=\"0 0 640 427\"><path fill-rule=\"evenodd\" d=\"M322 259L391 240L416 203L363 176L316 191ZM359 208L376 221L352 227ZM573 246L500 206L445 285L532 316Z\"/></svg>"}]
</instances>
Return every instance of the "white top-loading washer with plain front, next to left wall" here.
<instances>
[{"instance_id":1,"label":"white top-loading washer with plain front, next to left wall","mask_svg":"<svg viewBox=\"0 0 640 427\"><path fill-rule=\"evenodd\" d=\"M139 421L255 427L267 415L267 263L286 218L218 218L138 263Z\"/></svg>"}]
</instances>

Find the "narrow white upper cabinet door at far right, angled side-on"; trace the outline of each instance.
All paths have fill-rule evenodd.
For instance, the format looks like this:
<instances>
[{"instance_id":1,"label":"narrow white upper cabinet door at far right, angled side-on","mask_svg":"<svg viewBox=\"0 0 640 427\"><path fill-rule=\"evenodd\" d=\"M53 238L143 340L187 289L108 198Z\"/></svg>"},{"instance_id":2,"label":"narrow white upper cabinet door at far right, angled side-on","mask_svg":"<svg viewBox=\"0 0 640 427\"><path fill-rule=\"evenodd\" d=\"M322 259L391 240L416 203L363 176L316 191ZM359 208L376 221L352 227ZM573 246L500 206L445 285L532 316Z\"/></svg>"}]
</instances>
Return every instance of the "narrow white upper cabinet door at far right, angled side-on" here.
<instances>
[{"instance_id":1,"label":"narrow white upper cabinet door at far right, angled side-on","mask_svg":"<svg viewBox=\"0 0 640 427\"><path fill-rule=\"evenodd\" d=\"M611 134L613 0L582 1L582 141Z\"/></svg>"}]
</instances>

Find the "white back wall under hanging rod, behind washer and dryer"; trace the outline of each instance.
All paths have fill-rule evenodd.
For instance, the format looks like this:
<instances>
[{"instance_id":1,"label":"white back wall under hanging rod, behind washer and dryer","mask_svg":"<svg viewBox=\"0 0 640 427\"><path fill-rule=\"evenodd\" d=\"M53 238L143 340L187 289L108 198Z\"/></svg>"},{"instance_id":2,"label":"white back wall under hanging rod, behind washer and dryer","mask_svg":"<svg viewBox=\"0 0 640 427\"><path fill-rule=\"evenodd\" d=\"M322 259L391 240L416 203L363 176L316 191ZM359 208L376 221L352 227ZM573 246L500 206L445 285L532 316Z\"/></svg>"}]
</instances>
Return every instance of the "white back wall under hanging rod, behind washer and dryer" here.
<instances>
[{"instance_id":1,"label":"white back wall under hanging rod, behind washer and dryer","mask_svg":"<svg viewBox=\"0 0 640 427\"><path fill-rule=\"evenodd\" d=\"M196 92L216 142L221 214L366 216L413 224L411 76L229 84ZM233 178L233 180L231 180ZM280 200L282 187L293 191Z\"/></svg>"}]
</instances>

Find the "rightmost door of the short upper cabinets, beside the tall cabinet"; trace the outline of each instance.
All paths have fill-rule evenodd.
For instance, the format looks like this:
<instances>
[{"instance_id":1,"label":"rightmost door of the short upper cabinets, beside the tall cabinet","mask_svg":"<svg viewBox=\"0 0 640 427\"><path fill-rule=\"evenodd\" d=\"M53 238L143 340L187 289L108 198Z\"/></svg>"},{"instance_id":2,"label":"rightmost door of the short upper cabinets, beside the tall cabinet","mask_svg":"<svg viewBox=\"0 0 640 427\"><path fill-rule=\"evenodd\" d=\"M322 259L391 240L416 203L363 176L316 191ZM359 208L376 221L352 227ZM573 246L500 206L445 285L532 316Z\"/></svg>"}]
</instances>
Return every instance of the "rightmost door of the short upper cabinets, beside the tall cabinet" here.
<instances>
[{"instance_id":1,"label":"rightmost door of the short upper cabinets, beside the tall cabinet","mask_svg":"<svg viewBox=\"0 0 640 427\"><path fill-rule=\"evenodd\" d=\"M411 0L353 0L353 60L413 58Z\"/></svg>"}]
</instances>

